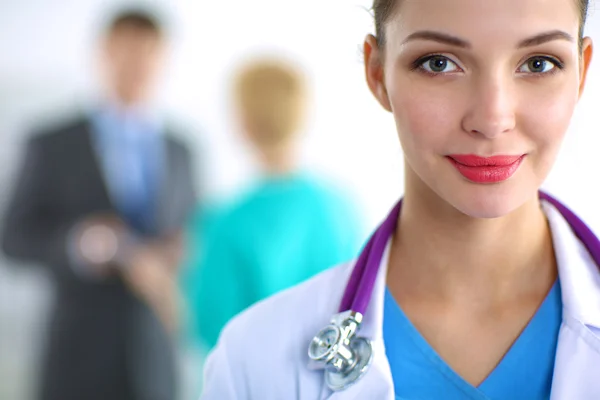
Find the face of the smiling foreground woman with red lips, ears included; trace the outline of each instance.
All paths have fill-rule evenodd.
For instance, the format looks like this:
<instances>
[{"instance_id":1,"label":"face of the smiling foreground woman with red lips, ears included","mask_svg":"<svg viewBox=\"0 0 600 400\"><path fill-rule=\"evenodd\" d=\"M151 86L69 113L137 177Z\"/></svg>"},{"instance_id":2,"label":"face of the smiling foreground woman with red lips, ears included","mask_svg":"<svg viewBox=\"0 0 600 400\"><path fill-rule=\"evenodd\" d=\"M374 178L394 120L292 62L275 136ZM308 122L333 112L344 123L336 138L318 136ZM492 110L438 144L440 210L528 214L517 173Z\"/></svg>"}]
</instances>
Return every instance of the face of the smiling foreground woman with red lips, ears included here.
<instances>
[{"instance_id":1,"label":"face of the smiling foreground woman with red lips, ears included","mask_svg":"<svg viewBox=\"0 0 600 400\"><path fill-rule=\"evenodd\" d=\"M396 120L407 193L483 218L530 200L582 92L579 23L577 0L402 0L365 63Z\"/></svg>"}]
</instances>

